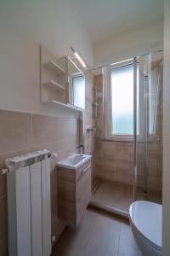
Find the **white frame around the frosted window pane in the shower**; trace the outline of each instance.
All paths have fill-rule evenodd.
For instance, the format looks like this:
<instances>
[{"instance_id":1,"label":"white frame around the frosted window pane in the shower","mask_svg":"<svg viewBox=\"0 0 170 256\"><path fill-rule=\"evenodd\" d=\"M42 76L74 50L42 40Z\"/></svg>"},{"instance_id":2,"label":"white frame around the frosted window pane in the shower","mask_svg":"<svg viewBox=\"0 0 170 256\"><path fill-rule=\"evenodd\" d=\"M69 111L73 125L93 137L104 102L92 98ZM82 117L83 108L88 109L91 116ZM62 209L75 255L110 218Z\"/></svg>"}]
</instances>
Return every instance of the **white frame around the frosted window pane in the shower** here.
<instances>
[{"instance_id":1,"label":"white frame around the frosted window pane in the shower","mask_svg":"<svg viewBox=\"0 0 170 256\"><path fill-rule=\"evenodd\" d=\"M112 123L112 113L111 113L111 70L116 67L125 67L127 65L133 65L133 60L122 61L109 67L105 67L105 140L113 141L133 141L133 135L128 134L112 134L111 133L111 123Z\"/></svg>"}]
</instances>

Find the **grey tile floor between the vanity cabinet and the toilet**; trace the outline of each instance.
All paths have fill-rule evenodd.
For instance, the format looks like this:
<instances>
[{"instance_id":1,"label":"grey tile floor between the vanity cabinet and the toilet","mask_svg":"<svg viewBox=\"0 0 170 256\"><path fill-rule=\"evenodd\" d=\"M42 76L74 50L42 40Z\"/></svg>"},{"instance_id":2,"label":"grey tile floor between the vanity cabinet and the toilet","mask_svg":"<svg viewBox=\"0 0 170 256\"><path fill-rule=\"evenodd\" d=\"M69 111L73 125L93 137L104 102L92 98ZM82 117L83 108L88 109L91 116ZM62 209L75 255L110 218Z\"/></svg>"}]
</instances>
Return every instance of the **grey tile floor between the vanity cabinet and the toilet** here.
<instances>
[{"instance_id":1,"label":"grey tile floor between the vanity cabinet and the toilet","mask_svg":"<svg viewBox=\"0 0 170 256\"><path fill-rule=\"evenodd\" d=\"M142 256L130 225L89 207L76 229L66 227L52 256Z\"/></svg>"}]
</instances>

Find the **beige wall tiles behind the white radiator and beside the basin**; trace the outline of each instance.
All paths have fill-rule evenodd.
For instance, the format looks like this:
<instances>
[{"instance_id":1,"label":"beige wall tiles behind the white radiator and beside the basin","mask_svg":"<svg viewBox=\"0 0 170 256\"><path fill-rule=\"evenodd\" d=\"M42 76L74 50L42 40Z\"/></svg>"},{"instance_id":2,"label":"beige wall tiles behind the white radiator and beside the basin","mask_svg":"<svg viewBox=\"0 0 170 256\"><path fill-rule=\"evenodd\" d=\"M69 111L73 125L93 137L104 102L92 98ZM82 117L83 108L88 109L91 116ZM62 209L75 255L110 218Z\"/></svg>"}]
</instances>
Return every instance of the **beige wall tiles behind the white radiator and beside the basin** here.
<instances>
[{"instance_id":1,"label":"beige wall tiles behind the white radiator and beside the basin","mask_svg":"<svg viewBox=\"0 0 170 256\"><path fill-rule=\"evenodd\" d=\"M47 148L59 154L62 160L76 152L77 119L54 118L27 113L14 113L0 110L0 169L5 160L19 154ZM0 176L0 241L7 238L7 183L6 176ZM2 197L2 195L5 195ZM52 232L59 237L65 222L57 212L57 169L56 160L51 161L51 215ZM7 243L0 244L0 252L7 251ZM1 254L1 253L0 253Z\"/></svg>"}]
</instances>

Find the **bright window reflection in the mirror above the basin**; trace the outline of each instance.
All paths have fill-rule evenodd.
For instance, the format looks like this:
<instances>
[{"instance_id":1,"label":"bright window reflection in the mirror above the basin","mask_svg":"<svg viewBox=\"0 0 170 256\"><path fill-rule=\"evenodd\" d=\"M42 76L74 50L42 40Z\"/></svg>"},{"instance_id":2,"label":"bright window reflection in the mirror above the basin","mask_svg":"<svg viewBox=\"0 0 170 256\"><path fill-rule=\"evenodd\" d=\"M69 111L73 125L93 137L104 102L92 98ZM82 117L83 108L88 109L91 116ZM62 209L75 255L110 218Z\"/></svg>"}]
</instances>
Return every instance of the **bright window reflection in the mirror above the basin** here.
<instances>
[{"instance_id":1,"label":"bright window reflection in the mirror above the basin","mask_svg":"<svg viewBox=\"0 0 170 256\"><path fill-rule=\"evenodd\" d=\"M72 78L73 105L85 108L85 78L75 76Z\"/></svg>"}]
</instances>

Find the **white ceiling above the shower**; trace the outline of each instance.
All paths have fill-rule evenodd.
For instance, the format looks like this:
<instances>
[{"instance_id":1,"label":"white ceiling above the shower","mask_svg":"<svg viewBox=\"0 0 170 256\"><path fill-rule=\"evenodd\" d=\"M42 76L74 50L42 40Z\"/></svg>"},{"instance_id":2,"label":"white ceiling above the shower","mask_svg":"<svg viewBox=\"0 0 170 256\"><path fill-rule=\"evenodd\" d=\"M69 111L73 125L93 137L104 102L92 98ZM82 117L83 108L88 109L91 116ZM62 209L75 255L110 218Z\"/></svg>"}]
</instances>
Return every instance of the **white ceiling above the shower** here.
<instances>
[{"instance_id":1,"label":"white ceiling above the shower","mask_svg":"<svg viewBox=\"0 0 170 256\"><path fill-rule=\"evenodd\" d=\"M163 0L72 0L94 44L163 19Z\"/></svg>"}]
</instances>

